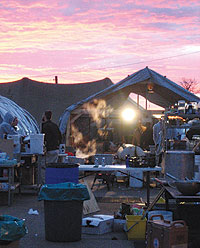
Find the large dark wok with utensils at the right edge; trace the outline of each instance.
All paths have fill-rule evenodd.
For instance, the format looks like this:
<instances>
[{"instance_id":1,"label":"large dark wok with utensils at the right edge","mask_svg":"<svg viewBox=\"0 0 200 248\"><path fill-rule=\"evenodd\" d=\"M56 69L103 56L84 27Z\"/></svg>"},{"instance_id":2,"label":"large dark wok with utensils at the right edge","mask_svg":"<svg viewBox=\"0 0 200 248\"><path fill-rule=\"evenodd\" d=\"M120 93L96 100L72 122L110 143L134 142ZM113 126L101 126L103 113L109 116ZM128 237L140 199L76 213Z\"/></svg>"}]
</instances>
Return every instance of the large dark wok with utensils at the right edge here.
<instances>
[{"instance_id":1,"label":"large dark wok with utensils at the right edge","mask_svg":"<svg viewBox=\"0 0 200 248\"><path fill-rule=\"evenodd\" d=\"M175 180L172 183L168 183L169 186L176 187L183 195L196 195L200 192L200 181L189 179L179 180L174 176L171 176L169 173L166 173L166 175Z\"/></svg>"}]
</instances>

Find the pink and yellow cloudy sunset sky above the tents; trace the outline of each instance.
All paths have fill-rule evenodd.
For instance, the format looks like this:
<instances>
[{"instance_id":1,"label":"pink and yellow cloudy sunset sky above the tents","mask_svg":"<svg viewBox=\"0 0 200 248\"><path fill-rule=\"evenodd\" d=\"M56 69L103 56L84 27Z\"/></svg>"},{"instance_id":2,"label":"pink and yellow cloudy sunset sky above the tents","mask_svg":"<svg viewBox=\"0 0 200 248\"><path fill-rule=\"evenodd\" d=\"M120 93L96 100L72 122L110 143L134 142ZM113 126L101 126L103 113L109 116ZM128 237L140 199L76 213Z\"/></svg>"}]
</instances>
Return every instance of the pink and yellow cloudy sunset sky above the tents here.
<instances>
[{"instance_id":1,"label":"pink and yellow cloudy sunset sky above the tents","mask_svg":"<svg viewBox=\"0 0 200 248\"><path fill-rule=\"evenodd\" d=\"M0 82L119 82L144 67L200 83L199 0L1 0Z\"/></svg>"}]
</instances>

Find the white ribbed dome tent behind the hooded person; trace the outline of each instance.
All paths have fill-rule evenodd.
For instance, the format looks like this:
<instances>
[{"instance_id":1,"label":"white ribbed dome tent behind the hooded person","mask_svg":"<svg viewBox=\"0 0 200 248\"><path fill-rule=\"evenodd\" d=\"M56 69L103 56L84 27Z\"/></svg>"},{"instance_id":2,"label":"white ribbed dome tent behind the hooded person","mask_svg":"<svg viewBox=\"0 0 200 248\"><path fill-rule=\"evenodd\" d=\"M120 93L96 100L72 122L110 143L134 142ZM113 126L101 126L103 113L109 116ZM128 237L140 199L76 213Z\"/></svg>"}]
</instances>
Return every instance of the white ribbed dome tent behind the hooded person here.
<instances>
[{"instance_id":1,"label":"white ribbed dome tent behind the hooded person","mask_svg":"<svg viewBox=\"0 0 200 248\"><path fill-rule=\"evenodd\" d=\"M18 132L22 136L40 133L39 126L30 113L10 99L0 96L0 123L7 112L18 118Z\"/></svg>"}]
</instances>

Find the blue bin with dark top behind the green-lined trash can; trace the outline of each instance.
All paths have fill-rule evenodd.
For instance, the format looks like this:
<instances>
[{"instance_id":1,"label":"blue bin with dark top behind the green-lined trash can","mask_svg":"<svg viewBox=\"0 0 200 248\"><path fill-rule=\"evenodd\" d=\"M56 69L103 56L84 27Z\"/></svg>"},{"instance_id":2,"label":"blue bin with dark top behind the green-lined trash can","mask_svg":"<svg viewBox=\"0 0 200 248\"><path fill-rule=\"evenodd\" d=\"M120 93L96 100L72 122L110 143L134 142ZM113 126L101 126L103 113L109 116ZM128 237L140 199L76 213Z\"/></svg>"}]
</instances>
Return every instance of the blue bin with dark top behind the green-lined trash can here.
<instances>
[{"instance_id":1,"label":"blue bin with dark top behind the green-lined trash can","mask_svg":"<svg viewBox=\"0 0 200 248\"><path fill-rule=\"evenodd\" d=\"M48 163L45 171L45 184L78 183L78 166L79 164Z\"/></svg>"}]
</instances>

